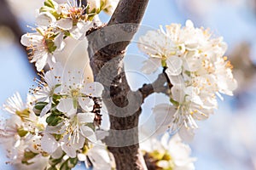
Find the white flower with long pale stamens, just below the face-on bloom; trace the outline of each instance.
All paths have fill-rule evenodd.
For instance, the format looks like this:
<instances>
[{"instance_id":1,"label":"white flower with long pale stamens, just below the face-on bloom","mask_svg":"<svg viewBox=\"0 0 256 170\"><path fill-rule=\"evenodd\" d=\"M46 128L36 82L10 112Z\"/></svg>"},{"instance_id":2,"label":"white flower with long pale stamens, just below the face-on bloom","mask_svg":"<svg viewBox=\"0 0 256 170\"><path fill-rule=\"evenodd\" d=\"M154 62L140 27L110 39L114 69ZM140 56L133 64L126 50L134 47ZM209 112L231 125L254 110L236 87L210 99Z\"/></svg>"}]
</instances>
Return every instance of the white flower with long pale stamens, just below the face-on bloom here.
<instances>
[{"instance_id":1,"label":"white flower with long pale stamens, just below the face-on bloom","mask_svg":"<svg viewBox=\"0 0 256 170\"><path fill-rule=\"evenodd\" d=\"M78 113L57 126L47 126L41 140L42 149L51 154L61 146L67 156L76 157L77 150L84 147L85 139L96 142L96 134L90 127L94 118L94 113ZM61 135L61 139L57 141L52 134Z\"/></svg>"}]
</instances>

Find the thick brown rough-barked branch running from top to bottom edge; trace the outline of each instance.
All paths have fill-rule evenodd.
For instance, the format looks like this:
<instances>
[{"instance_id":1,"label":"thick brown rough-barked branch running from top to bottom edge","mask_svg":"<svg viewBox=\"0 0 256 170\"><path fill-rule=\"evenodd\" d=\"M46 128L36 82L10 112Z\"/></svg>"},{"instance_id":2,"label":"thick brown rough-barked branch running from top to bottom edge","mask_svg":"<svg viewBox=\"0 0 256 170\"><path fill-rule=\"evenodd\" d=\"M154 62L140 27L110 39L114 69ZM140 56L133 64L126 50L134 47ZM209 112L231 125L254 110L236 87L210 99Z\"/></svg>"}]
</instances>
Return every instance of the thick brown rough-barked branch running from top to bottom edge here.
<instances>
[{"instance_id":1,"label":"thick brown rough-barked branch running from top to bottom edge","mask_svg":"<svg viewBox=\"0 0 256 170\"><path fill-rule=\"evenodd\" d=\"M143 97L131 92L126 81L123 58L148 0L121 0L108 25L88 36L90 65L108 108L110 131L106 139L119 170L147 169L138 144L138 120ZM127 24L133 23L133 24Z\"/></svg>"}]
</instances>

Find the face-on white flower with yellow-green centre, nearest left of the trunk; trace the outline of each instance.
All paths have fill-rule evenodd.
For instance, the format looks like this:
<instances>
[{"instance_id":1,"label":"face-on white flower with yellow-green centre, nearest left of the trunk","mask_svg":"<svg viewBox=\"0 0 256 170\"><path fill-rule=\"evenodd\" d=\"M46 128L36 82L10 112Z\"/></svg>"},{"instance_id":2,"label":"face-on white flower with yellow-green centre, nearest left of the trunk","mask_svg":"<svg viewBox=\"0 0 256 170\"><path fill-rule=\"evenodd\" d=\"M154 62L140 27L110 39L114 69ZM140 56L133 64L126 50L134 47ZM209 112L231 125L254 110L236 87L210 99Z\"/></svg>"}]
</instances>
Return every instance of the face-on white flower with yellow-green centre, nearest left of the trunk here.
<instances>
[{"instance_id":1,"label":"face-on white flower with yellow-green centre, nearest left of the trunk","mask_svg":"<svg viewBox=\"0 0 256 170\"><path fill-rule=\"evenodd\" d=\"M86 82L83 71L67 71L61 82L61 95L57 110L73 116L78 109L90 112L94 101L91 97L102 96L102 84L99 82Z\"/></svg>"}]
</instances>

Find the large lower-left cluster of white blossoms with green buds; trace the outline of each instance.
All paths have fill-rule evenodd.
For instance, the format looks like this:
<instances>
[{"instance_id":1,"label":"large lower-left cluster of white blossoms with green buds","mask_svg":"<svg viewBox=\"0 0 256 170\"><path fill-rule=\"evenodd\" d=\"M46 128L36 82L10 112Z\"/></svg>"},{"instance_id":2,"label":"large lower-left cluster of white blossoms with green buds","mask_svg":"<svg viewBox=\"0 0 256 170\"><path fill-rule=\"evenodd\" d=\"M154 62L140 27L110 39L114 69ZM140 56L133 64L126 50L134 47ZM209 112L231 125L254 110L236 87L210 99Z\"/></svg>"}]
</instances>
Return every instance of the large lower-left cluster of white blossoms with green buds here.
<instances>
[{"instance_id":1,"label":"large lower-left cluster of white blossoms with green buds","mask_svg":"<svg viewBox=\"0 0 256 170\"><path fill-rule=\"evenodd\" d=\"M37 82L26 104L15 94L3 105L10 118L2 124L1 139L10 163L20 169L71 169L84 161L111 169L111 155L96 137L108 134L99 129L102 84L86 82L82 71L63 71L59 63Z\"/></svg>"}]
</instances>

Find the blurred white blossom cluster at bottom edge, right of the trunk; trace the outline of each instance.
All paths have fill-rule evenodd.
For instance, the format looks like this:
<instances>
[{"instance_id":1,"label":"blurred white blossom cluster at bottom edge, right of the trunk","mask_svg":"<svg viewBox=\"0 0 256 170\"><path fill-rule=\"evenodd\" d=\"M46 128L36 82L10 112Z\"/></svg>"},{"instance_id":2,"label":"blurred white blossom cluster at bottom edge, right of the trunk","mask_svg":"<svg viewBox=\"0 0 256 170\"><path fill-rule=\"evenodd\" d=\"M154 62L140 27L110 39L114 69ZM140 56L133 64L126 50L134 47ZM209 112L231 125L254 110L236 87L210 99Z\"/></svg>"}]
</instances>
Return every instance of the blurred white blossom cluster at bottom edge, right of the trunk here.
<instances>
[{"instance_id":1,"label":"blurred white blossom cluster at bottom edge, right of the trunk","mask_svg":"<svg viewBox=\"0 0 256 170\"><path fill-rule=\"evenodd\" d=\"M165 133L160 141L148 139L141 144L148 169L194 170L194 157L190 157L191 149L183 144L178 134L170 139Z\"/></svg>"}]
</instances>

